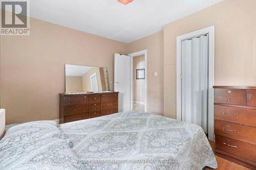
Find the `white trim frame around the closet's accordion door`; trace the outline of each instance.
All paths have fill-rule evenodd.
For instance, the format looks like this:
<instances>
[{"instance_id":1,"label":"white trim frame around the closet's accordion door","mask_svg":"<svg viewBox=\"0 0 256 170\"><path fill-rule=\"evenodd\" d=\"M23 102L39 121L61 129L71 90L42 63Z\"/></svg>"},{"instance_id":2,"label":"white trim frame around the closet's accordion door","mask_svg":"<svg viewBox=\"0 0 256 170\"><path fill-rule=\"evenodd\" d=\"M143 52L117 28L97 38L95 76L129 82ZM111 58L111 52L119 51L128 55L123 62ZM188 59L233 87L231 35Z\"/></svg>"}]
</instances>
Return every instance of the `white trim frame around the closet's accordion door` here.
<instances>
[{"instance_id":1,"label":"white trim frame around the closet's accordion door","mask_svg":"<svg viewBox=\"0 0 256 170\"><path fill-rule=\"evenodd\" d=\"M215 26L197 30L177 37L176 55L176 118L181 120L181 42L182 40L208 34L208 138L214 141L214 83L215 83Z\"/></svg>"}]
</instances>

